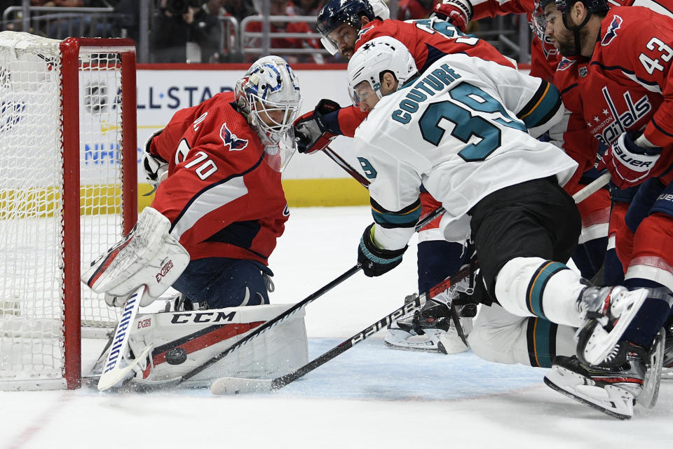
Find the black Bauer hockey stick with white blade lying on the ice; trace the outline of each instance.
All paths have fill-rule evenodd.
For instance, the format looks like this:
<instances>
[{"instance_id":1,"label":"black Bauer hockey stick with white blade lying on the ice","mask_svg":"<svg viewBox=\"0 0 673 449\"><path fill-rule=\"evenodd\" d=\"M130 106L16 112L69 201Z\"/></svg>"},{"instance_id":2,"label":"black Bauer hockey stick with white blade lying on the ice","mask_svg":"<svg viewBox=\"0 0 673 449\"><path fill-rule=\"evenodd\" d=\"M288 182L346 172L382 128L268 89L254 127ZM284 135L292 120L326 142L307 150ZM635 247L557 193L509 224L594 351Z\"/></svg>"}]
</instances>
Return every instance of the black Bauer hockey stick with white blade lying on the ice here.
<instances>
[{"instance_id":1,"label":"black Bauer hockey stick with white blade lying on the ice","mask_svg":"<svg viewBox=\"0 0 673 449\"><path fill-rule=\"evenodd\" d=\"M426 293L416 296L414 300L407 302L399 309L395 309L379 321L376 321L376 323L360 330L360 332L353 335L353 337L344 342L341 342L336 347L329 349L329 351L325 352L325 354L318 356L318 358L314 358L312 361L306 363L306 365L302 366L301 368L297 368L296 370L292 371L292 373L276 377L275 379L220 377L212 384L210 391L212 391L212 394L237 394L268 393L281 389L299 379L299 377L303 377L304 375L311 373L311 371L315 370L315 368L324 365L328 361L332 360L332 358L339 356L339 354L343 354L345 351L348 351L348 349L351 349L353 346L355 346L355 344L358 344L363 340L371 337L375 333L379 332L379 330L388 326L388 324L392 323L395 319L400 318L400 316L404 316L405 314L408 314L416 309L420 309L428 299L437 296L445 290L448 290L451 288L451 286L454 286L455 283L462 281L469 275L470 267L461 269L458 273L454 274L454 276L444 279L444 281L438 283L433 288L430 288L430 290L428 290Z\"/></svg>"}]
</instances>

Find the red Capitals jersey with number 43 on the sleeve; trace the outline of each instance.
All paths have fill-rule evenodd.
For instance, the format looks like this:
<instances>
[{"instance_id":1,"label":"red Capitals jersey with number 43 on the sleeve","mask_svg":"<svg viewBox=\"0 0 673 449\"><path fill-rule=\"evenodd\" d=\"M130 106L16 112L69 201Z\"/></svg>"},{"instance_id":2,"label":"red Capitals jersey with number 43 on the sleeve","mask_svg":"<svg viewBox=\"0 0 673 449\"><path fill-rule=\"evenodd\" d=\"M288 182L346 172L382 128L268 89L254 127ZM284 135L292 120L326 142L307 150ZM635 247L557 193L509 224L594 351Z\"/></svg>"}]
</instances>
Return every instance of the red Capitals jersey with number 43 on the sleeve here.
<instances>
[{"instance_id":1,"label":"red Capitals jersey with number 43 on the sleeve","mask_svg":"<svg viewBox=\"0 0 673 449\"><path fill-rule=\"evenodd\" d=\"M555 75L566 108L573 112L569 147L586 147L592 136L594 159L597 143L611 145L627 130L643 130L659 147L673 144L673 20L637 6L616 7L601 21L590 60L563 58ZM671 163L665 151L653 175Z\"/></svg>"}]
</instances>

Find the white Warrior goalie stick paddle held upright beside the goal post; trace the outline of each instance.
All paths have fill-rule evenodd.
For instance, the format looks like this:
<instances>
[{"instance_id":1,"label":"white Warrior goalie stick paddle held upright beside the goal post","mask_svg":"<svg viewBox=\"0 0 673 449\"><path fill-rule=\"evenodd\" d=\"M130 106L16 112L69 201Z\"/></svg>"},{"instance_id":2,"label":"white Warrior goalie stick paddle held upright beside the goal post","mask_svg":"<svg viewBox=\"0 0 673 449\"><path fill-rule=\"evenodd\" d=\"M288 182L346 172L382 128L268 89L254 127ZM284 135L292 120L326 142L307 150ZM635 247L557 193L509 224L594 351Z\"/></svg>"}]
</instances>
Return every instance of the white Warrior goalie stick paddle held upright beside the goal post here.
<instances>
[{"instance_id":1,"label":"white Warrior goalie stick paddle held upright beside the goal post","mask_svg":"<svg viewBox=\"0 0 673 449\"><path fill-rule=\"evenodd\" d=\"M142 358L127 358L128 356L128 337L131 333L131 323L135 320L140 307L140 299L144 295L146 286L138 287L121 308L121 319L117 323L110 345L110 351L103 366L103 373L98 380L98 389L100 391L115 387L121 382L127 373Z\"/></svg>"}]
</instances>

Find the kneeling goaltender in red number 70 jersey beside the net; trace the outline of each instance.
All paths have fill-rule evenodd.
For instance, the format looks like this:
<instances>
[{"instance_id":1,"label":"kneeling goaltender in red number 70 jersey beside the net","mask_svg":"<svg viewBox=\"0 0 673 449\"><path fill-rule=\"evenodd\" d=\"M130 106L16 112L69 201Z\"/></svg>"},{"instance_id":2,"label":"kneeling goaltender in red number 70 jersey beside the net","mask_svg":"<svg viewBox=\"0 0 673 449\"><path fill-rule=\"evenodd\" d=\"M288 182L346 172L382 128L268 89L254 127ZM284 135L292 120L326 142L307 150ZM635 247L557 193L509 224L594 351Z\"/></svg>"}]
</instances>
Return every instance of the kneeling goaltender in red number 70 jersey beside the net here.
<instances>
[{"instance_id":1,"label":"kneeling goaltender in red number 70 jersey beside the net","mask_svg":"<svg viewBox=\"0 0 673 449\"><path fill-rule=\"evenodd\" d=\"M143 166L156 187L154 201L132 232L93 262L82 280L106 293L109 305L125 305L125 315L129 298L142 286L140 306L169 287L181 295L167 304L172 314L141 314L137 324L130 324L130 351L119 349L128 366L105 387L99 382L100 389L116 385L122 375L123 381L182 375L222 351L222 345L229 347L233 340L227 339L283 311L262 304L268 304L273 290L268 257L289 217L280 172L294 153L292 122L300 106L292 68L267 56L254 62L234 92L178 111L149 139ZM259 307L243 307L253 305ZM245 374L262 367L266 375L283 371L287 361L301 366L306 360L303 319L292 326L294 337L276 340L285 347L294 344L293 354L280 355L283 348L273 348L269 354L278 358L260 354L263 360L232 369ZM283 326L277 332L284 332ZM104 374L113 362L104 364Z\"/></svg>"}]
</instances>

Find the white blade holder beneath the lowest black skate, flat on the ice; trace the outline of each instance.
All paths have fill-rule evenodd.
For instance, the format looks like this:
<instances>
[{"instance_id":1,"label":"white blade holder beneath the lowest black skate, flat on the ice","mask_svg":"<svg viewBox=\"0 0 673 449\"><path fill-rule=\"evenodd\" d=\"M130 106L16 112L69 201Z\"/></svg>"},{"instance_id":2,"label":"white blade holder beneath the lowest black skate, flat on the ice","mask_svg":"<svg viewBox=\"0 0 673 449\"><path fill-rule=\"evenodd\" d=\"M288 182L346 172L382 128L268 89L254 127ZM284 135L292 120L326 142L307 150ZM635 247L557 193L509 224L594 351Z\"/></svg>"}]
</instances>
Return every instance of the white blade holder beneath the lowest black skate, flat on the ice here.
<instances>
[{"instance_id":1,"label":"white blade holder beneath the lowest black skate, flat on the ice","mask_svg":"<svg viewBox=\"0 0 673 449\"><path fill-rule=\"evenodd\" d=\"M587 385L585 377L561 367L552 368L544 381L560 394L618 420L630 420L633 417L633 395L629 391L614 385L605 388Z\"/></svg>"}]
</instances>

